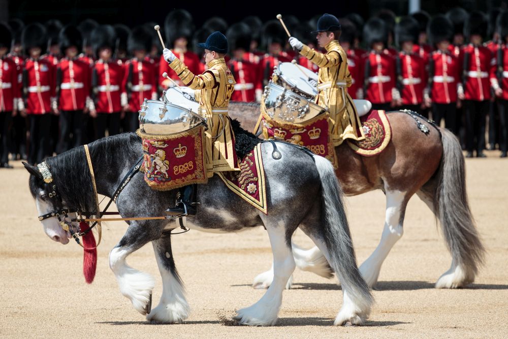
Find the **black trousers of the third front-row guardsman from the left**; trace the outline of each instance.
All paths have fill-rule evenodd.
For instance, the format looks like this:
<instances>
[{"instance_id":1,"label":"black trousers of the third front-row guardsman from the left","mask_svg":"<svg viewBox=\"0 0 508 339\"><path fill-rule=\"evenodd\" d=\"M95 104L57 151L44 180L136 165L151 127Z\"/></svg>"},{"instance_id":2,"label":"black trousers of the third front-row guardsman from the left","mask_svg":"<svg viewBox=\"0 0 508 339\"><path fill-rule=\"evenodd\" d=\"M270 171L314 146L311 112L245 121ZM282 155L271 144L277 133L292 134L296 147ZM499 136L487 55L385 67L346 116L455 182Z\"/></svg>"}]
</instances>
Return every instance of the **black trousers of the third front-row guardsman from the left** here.
<instances>
[{"instance_id":1,"label":"black trousers of the third front-row guardsman from the left","mask_svg":"<svg viewBox=\"0 0 508 339\"><path fill-rule=\"evenodd\" d=\"M83 144L83 111L60 112L60 140L58 153Z\"/></svg>"}]
</instances>

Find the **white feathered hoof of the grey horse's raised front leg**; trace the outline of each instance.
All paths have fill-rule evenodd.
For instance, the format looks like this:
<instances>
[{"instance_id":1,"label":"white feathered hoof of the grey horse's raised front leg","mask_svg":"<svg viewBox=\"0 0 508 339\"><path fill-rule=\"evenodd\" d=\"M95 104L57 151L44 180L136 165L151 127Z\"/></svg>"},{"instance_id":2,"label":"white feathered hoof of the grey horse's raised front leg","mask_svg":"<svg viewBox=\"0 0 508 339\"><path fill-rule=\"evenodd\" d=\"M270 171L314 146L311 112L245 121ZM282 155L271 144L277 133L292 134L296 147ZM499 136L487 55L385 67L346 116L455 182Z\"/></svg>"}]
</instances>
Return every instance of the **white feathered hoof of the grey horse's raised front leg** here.
<instances>
[{"instance_id":1,"label":"white feathered hoof of the grey horse's raised front leg","mask_svg":"<svg viewBox=\"0 0 508 339\"><path fill-rule=\"evenodd\" d=\"M151 294L155 285L151 275L130 268L117 279L121 294L131 300L134 308L142 315L150 312Z\"/></svg>"}]
</instances>

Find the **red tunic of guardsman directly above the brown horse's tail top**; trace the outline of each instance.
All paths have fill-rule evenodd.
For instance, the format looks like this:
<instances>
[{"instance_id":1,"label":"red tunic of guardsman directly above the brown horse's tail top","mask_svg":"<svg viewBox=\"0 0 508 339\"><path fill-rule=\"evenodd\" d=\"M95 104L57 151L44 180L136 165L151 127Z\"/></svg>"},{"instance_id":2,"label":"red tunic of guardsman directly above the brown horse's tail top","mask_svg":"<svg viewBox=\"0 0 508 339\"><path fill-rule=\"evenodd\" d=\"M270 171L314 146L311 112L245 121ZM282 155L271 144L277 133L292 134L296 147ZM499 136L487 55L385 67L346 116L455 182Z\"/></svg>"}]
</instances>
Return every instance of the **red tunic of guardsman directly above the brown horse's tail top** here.
<instances>
[{"instance_id":1,"label":"red tunic of guardsman directly above the brown horse's tail top","mask_svg":"<svg viewBox=\"0 0 508 339\"><path fill-rule=\"evenodd\" d=\"M457 84L461 68L459 58L452 53L440 50L430 55L434 72L430 88L432 101L437 104L450 104L457 101Z\"/></svg>"}]
</instances>

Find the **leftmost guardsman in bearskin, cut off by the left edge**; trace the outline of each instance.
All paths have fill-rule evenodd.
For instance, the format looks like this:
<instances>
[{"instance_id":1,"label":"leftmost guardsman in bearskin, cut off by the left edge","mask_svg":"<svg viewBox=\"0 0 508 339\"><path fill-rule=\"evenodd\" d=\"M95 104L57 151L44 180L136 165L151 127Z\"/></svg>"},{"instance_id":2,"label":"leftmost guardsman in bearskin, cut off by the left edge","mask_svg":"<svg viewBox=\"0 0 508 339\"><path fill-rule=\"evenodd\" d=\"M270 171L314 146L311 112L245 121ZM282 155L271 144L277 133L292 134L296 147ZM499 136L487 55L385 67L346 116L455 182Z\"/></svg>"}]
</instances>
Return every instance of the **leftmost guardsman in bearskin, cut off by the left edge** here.
<instances>
[{"instance_id":1,"label":"leftmost guardsman in bearskin, cut off by the left edge","mask_svg":"<svg viewBox=\"0 0 508 339\"><path fill-rule=\"evenodd\" d=\"M12 168L9 165L9 128L20 97L16 63L7 56L11 44L11 29L0 22L0 168Z\"/></svg>"}]
</instances>

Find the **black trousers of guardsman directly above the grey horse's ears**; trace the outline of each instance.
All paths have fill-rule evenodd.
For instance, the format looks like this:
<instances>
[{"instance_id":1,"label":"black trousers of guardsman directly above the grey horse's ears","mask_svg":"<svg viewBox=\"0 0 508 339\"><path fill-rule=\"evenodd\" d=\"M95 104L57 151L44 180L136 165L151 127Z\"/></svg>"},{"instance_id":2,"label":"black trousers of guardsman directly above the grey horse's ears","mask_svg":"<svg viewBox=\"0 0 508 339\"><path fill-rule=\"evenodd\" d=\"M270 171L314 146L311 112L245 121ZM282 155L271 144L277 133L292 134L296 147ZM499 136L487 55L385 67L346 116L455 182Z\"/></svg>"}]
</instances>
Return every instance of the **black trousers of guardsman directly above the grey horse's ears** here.
<instances>
[{"instance_id":1,"label":"black trousers of guardsman directly above the grey horse's ears","mask_svg":"<svg viewBox=\"0 0 508 339\"><path fill-rule=\"evenodd\" d=\"M49 139L51 138L52 114L29 114L30 142L28 144L28 163L40 164L49 153Z\"/></svg>"}]
</instances>

